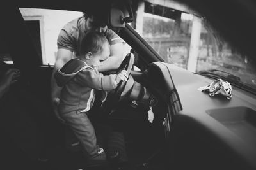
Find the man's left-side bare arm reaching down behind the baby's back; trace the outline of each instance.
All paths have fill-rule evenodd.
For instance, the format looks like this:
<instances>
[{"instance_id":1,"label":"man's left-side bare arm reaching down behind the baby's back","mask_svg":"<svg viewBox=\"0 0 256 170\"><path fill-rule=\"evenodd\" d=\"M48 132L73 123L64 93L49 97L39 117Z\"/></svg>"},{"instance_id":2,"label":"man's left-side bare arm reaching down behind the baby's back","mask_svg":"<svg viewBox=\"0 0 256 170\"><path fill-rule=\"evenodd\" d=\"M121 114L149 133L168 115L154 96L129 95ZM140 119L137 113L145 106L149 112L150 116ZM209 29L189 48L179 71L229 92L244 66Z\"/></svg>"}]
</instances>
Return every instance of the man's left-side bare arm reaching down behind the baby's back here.
<instances>
[{"instance_id":1,"label":"man's left-side bare arm reaching down behind the baby's back","mask_svg":"<svg viewBox=\"0 0 256 170\"><path fill-rule=\"evenodd\" d=\"M54 69L52 71L52 77L51 77L51 97L52 97L52 104L54 107L54 112L56 114L56 117L60 118L57 111L57 106L59 103L60 98L60 92L62 87L58 87L56 80L54 78L54 74L58 69L60 69L66 62L68 62L70 59L72 59L72 52L70 50L66 49L58 49L57 51L57 57L56 62L54 65ZM61 119L61 118L60 118Z\"/></svg>"}]
</instances>

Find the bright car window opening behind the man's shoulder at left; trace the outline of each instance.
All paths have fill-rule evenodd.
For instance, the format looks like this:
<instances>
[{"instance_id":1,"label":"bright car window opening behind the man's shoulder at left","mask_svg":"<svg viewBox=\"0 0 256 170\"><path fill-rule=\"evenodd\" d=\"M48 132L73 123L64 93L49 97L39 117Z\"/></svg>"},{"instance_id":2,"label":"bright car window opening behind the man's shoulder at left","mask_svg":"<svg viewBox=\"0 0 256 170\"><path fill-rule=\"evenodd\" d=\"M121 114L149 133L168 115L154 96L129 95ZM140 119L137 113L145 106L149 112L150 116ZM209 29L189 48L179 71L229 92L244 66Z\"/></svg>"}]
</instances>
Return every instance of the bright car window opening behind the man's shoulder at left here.
<instances>
[{"instance_id":1,"label":"bright car window opening behind the man's shoulder at left","mask_svg":"<svg viewBox=\"0 0 256 170\"><path fill-rule=\"evenodd\" d=\"M79 11L19 8L42 64L54 65L61 28L82 16Z\"/></svg>"}]
</instances>

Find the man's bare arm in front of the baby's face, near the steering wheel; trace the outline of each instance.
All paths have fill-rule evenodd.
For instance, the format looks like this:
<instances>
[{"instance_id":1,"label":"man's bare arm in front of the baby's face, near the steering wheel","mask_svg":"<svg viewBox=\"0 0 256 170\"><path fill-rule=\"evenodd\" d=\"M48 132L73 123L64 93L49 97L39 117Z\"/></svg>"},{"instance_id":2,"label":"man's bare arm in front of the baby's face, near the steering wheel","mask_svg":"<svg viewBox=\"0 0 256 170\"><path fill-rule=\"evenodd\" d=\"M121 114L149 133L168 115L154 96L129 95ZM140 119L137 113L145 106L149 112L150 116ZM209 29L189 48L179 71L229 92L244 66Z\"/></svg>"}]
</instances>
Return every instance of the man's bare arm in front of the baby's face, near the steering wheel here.
<instances>
[{"instance_id":1,"label":"man's bare arm in front of the baby's face, near the steering wheel","mask_svg":"<svg viewBox=\"0 0 256 170\"><path fill-rule=\"evenodd\" d=\"M110 46L110 56L104 60L102 66L98 68L99 72L118 69L123 60L124 44L116 43Z\"/></svg>"}]
</instances>

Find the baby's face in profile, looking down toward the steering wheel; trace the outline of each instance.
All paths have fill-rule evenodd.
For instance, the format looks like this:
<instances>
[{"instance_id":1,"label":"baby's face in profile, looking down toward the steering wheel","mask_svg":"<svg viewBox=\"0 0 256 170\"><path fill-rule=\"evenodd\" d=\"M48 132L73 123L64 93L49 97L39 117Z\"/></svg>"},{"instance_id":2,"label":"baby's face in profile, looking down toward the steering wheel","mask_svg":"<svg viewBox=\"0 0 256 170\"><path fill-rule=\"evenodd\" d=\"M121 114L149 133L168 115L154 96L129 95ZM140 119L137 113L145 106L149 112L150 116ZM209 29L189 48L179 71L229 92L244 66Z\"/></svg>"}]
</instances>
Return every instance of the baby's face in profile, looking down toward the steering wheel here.
<instances>
[{"instance_id":1,"label":"baby's face in profile, looking down toward the steering wheel","mask_svg":"<svg viewBox=\"0 0 256 170\"><path fill-rule=\"evenodd\" d=\"M106 42L102 46L102 52L94 53L93 57L87 62L89 65L101 66L104 60L108 59L110 55L109 44Z\"/></svg>"}]
</instances>

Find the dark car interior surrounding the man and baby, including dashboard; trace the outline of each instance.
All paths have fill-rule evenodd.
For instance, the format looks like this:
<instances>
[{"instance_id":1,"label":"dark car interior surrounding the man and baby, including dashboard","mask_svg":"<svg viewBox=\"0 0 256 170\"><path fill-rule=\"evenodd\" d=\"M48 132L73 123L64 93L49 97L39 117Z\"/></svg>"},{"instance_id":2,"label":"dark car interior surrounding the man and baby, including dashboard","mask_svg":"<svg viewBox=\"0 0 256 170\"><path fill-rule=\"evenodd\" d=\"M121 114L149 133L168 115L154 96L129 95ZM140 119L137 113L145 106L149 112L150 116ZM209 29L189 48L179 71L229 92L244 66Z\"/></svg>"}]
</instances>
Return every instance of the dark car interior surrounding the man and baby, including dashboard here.
<instances>
[{"instance_id":1,"label":"dark car interior surrounding the man and baby, including dashboard","mask_svg":"<svg viewBox=\"0 0 256 170\"><path fill-rule=\"evenodd\" d=\"M244 39L253 42L256 37L255 26L251 25L256 20L252 10L255 3L179 2L209 17L234 45L255 56L254 43L243 43ZM254 6L250 8L250 4ZM217 6L221 7L218 12L215 11ZM100 103L100 96L96 97L91 111L98 143L109 153L119 152L107 166L87 166L77 141L70 141L67 127L54 115L51 103L53 66L42 64L19 7L101 11L108 16L108 26L132 47L118 70L104 73L127 69L129 80L109 93L104 103ZM232 17L250 18L236 25L231 16L223 15L227 8ZM10 53L13 64L1 62L0 75L12 67L21 71L17 83L0 99L1 168L256 168L256 94L236 86L232 89L232 100L212 98L200 92L198 87L210 84L213 79L164 62L129 25L136 15L134 9L136 1L125 0L77 0L73 4L14 1L1 6L0 49L1 53ZM230 29L233 27L236 29ZM253 31L249 34L246 29ZM255 57L252 59L255 61ZM150 110L154 112L152 123L148 121Z\"/></svg>"}]
</instances>

